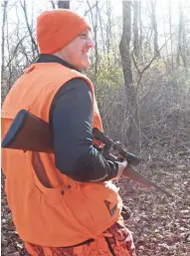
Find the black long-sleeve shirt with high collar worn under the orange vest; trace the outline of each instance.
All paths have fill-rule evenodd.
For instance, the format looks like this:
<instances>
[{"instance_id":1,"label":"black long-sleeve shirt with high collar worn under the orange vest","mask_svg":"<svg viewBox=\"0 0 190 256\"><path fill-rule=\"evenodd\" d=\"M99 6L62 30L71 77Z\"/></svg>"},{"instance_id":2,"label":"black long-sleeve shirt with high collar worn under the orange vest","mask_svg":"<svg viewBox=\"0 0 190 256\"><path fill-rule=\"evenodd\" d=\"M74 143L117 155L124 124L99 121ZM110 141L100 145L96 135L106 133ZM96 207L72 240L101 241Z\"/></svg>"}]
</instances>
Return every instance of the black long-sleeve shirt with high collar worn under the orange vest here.
<instances>
[{"instance_id":1,"label":"black long-sleeve shirt with high collar worn under the orange vest","mask_svg":"<svg viewBox=\"0 0 190 256\"><path fill-rule=\"evenodd\" d=\"M74 69L54 55L40 55L37 62L56 62ZM56 166L82 182L108 180L117 173L117 163L108 161L93 145L93 99L81 78L67 82L56 94L50 110L54 132Z\"/></svg>"}]
</instances>

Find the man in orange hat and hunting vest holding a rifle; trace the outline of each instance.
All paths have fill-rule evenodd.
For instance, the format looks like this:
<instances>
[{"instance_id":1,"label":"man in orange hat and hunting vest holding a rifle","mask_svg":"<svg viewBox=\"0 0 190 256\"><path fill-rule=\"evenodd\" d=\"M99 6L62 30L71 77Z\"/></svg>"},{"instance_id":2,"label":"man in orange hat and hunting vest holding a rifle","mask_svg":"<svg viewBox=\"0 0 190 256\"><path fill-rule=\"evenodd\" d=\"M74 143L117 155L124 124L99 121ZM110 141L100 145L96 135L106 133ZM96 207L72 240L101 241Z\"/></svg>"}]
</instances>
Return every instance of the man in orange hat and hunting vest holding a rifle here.
<instances>
[{"instance_id":1,"label":"man in orange hat and hunting vest holding a rifle","mask_svg":"<svg viewBox=\"0 0 190 256\"><path fill-rule=\"evenodd\" d=\"M106 160L94 146L92 128L102 126L94 86L81 73L91 65L90 32L71 10L42 13L39 60L25 70L2 108L2 136L22 109L49 122L54 133L55 154L2 149L13 221L34 256L135 255L111 183L127 162Z\"/></svg>"}]
</instances>

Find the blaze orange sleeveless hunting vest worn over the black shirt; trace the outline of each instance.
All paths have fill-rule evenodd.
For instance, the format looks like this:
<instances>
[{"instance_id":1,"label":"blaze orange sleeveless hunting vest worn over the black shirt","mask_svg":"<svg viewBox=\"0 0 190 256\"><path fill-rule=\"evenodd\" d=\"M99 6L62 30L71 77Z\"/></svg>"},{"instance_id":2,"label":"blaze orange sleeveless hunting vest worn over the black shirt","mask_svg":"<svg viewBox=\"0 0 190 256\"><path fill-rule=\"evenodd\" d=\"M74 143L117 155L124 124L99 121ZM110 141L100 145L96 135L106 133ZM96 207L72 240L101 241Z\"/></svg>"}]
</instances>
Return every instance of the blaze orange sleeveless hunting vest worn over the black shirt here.
<instances>
[{"instance_id":1,"label":"blaze orange sleeveless hunting vest worn over the black shirt","mask_svg":"<svg viewBox=\"0 0 190 256\"><path fill-rule=\"evenodd\" d=\"M85 79L91 88L93 126L101 128L91 81L60 64L38 63L25 70L4 102L2 136L22 109L49 122L56 93L77 77ZM110 181L83 183L71 179L56 168L53 153L3 148L2 168L12 218L26 242L53 247L76 245L97 238L120 218L122 202L117 187Z\"/></svg>"}]
</instances>

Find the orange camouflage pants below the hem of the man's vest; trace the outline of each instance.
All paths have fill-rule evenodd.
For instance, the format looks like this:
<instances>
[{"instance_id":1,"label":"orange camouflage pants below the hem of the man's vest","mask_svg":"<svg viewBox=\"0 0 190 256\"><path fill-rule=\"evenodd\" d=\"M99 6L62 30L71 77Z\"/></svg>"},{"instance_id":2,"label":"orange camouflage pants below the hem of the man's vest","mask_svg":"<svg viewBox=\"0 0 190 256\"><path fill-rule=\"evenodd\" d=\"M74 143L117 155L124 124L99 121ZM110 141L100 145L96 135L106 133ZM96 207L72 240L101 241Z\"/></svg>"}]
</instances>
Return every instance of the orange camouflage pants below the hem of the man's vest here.
<instances>
[{"instance_id":1,"label":"orange camouflage pants below the hem of the man's vest","mask_svg":"<svg viewBox=\"0 0 190 256\"><path fill-rule=\"evenodd\" d=\"M136 256L130 231L113 224L97 240L72 247L42 247L25 243L32 256Z\"/></svg>"}]
</instances>

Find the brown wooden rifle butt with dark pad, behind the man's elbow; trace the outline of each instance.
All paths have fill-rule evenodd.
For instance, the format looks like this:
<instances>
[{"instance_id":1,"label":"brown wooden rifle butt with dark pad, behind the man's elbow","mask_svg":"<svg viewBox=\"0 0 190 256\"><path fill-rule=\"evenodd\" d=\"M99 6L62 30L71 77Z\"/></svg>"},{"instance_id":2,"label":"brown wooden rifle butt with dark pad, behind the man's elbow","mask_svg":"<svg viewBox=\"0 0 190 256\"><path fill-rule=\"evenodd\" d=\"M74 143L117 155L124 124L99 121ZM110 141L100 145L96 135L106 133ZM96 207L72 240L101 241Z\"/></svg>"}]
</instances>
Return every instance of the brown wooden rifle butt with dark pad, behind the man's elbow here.
<instances>
[{"instance_id":1,"label":"brown wooden rifle butt with dark pad, behind the man's elbow","mask_svg":"<svg viewBox=\"0 0 190 256\"><path fill-rule=\"evenodd\" d=\"M54 151L53 132L47 122L22 110L8 129L1 146L51 153Z\"/></svg>"}]
</instances>

